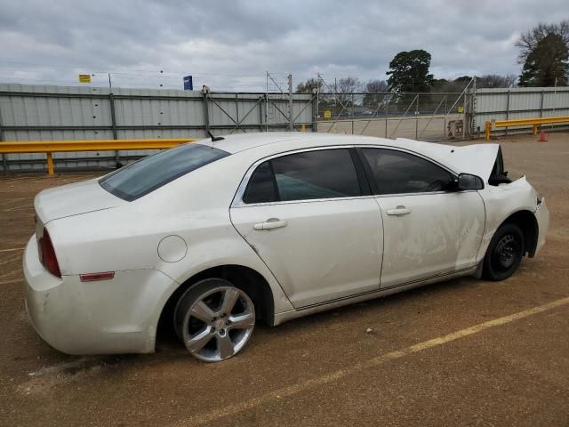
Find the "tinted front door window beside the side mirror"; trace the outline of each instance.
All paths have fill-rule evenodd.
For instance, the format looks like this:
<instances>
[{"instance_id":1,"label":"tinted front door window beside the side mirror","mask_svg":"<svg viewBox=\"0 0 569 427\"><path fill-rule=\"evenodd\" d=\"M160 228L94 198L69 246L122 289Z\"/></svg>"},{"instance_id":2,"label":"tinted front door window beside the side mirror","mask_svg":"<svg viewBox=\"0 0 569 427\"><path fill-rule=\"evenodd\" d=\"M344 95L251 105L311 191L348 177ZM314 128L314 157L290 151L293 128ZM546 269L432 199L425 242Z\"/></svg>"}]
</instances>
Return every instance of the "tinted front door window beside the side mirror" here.
<instances>
[{"instance_id":1,"label":"tinted front door window beside the side mirror","mask_svg":"<svg viewBox=\"0 0 569 427\"><path fill-rule=\"evenodd\" d=\"M453 175L429 160L393 149L362 149L376 183L377 194L444 191Z\"/></svg>"}]
</instances>

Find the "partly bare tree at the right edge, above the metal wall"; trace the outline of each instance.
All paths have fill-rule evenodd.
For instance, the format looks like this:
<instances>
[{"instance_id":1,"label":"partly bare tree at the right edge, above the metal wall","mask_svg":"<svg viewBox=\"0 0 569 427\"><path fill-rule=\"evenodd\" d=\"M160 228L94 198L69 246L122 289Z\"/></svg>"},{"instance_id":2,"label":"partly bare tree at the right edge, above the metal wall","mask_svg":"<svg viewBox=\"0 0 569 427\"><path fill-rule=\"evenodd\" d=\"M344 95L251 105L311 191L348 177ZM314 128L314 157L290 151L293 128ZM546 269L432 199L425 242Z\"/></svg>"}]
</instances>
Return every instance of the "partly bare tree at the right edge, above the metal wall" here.
<instances>
[{"instance_id":1,"label":"partly bare tree at the right edge, above the metal wall","mask_svg":"<svg viewBox=\"0 0 569 427\"><path fill-rule=\"evenodd\" d=\"M540 23L516 43L519 62L524 64L520 86L567 85L569 77L569 20Z\"/></svg>"}]
</instances>

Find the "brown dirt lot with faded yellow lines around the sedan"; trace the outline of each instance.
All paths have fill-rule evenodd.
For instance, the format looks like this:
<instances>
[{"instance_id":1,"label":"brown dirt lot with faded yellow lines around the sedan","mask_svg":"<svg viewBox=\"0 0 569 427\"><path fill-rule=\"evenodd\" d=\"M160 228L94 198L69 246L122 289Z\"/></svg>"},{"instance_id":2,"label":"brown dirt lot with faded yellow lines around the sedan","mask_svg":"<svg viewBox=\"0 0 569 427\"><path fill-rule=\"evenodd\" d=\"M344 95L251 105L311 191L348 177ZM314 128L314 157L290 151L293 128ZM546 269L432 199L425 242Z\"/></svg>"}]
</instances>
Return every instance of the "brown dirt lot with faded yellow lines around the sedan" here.
<instances>
[{"instance_id":1,"label":"brown dirt lot with faded yellow lines around the sedan","mask_svg":"<svg viewBox=\"0 0 569 427\"><path fill-rule=\"evenodd\" d=\"M20 267L32 200L92 175L0 178L0 425L569 425L569 135L535 139L501 140L510 175L525 173L551 212L547 245L514 277L258 326L220 364L171 339L104 358L42 342Z\"/></svg>"}]
</instances>

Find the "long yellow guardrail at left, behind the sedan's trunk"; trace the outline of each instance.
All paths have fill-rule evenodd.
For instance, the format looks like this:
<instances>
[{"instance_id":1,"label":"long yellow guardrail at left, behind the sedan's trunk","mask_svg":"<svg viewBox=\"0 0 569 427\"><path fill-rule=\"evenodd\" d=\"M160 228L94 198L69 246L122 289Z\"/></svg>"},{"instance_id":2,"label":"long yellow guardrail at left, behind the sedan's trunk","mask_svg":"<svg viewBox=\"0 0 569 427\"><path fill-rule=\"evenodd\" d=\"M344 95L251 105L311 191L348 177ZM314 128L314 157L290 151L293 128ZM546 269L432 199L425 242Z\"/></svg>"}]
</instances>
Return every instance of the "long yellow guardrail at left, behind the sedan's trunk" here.
<instances>
[{"instance_id":1,"label":"long yellow guardrail at left, behind the sedan's trunk","mask_svg":"<svg viewBox=\"0 0 569 427\"><path fill-rule=\"evenodd\" d=\"M196 138L156 139L156 140L91 140L91 141L3 141L0 154L45 153L47 172L53 176L52 153L66 151L107 151L127 149L171 149Z\"/></svg>"}]
</instances>

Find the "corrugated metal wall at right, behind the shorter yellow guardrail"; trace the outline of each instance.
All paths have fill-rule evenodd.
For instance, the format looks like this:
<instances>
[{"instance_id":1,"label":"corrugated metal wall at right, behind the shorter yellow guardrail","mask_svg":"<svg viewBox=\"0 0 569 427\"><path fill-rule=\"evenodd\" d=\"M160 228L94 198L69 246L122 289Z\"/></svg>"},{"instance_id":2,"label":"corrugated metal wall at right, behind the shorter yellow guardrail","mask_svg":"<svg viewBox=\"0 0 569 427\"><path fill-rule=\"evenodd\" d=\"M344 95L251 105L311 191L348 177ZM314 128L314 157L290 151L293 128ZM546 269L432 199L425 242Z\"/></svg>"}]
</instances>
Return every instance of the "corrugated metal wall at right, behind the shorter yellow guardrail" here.
<instances>
[{"instance_id":1,"label":"corrugated metal wall at right, behind the shorter yellow guardrail","mask_svg":"<svg viewBox=\"0 0 569 427\"><path fill-rule=\"evenodd\" d=\"M477 89L474 131L484 133L486 120L569 116L569 87L518 87ZM549 126L549 125L548 125ZM557 125L566 127L567 124ZM509 132L527 132L528 127L509 127ZM493 133L505 133L498 128Z\"/></svg>"}]
</instances>

